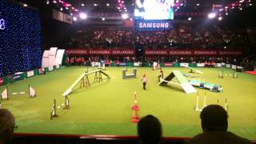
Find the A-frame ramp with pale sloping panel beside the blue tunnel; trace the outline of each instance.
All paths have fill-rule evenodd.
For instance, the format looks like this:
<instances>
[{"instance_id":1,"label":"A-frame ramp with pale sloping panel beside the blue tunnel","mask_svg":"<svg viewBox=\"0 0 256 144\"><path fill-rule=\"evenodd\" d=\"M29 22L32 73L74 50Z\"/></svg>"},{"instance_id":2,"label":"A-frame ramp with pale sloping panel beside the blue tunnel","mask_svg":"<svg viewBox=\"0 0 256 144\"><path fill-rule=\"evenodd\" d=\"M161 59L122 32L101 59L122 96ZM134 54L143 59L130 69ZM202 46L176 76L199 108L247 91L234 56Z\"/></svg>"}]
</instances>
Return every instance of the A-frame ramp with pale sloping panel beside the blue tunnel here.
<instances>
[{"instance_id":1,"label":"A-frame ramp with pale sloping panel beside the blue tunnel","mask_svg":"<svg viewBox=\"0 0 256 144\"><path fill-rule=\"evenodd\" d=\"M176 78L178 82L172 82L172 80ZM186 92L186 94L196 93L197 90L194 89L194 87L190 84L189 81L186 80L186 78L183 76L183 74L178 71L174 70L170 74L168 74L165 78L161 79L158 83L158 86L165 86L168 83L182 86L182 89Z\"/></svg>"}]
</instances>

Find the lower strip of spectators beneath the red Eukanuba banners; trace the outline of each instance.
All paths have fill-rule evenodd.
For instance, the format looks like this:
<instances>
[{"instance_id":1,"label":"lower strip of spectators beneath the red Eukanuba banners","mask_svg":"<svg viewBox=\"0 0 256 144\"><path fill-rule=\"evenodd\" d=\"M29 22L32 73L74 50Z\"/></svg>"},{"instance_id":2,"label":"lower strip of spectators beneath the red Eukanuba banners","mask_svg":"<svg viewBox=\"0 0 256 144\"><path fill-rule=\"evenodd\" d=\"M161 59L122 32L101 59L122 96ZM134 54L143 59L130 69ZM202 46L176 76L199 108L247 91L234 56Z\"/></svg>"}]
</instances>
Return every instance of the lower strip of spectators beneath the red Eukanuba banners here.
<instances>
[{"instance_id":1,"label":"lower strip of spectators beneath the red Eukanuba banners","mask_svg":"<svg viewBox=\"0 0 256 144\"><path fill-rule=\"evenodd\" d=\"M85 65L90 62L105 62L110 64L112 62L188 62L188 63L205 63L214 62L221 63L226 62L229 64L239 65L241 58L238 57L223 57L223 56L146 56L146 57L135 57L135 56L103 56L103 55L92 55L92 56L70 56L66 58L67 65Z\"/></svg>"}]
</instances>

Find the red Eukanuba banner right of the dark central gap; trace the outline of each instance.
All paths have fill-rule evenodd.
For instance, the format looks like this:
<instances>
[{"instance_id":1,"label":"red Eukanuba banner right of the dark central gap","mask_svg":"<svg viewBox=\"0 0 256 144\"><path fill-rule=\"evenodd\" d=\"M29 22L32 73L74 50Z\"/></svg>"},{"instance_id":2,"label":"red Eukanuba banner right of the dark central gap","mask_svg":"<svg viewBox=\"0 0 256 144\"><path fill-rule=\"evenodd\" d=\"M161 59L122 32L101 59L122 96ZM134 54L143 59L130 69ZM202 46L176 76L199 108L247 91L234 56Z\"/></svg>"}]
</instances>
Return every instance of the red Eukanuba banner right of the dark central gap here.
<instances>
[{"instance_id":1,"label":"red Eukanuba banner right of the dark central gap","mask_svg":"<svg viewBox=\"0 0 256 144\"><path fill-rule=\"evenodd\" d=\"M146 55L241 55L242 51L224 50L145 50Z\"/></svg>"}]
</instances>

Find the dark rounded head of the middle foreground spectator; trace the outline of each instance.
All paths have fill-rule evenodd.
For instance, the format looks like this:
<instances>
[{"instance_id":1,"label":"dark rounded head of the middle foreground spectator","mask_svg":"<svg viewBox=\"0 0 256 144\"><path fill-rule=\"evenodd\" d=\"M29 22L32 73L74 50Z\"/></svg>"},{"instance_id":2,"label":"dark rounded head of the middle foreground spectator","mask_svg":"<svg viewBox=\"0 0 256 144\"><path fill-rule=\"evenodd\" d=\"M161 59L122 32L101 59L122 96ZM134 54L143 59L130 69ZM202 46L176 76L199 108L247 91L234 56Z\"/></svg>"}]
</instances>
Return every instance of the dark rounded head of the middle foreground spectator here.
<instances>
[{"instance_id":1,"label":"dark rounded head of the middle foreground spectator","mask_svg":"<svg viewBox=\"0 0 256 144\"><path fill-rule=\"evenodd\" d=\"M153 115L147 115L139 120L137 132L142 144L159 144L162 141L161 122Z\"/></svg>"}]
</instances>

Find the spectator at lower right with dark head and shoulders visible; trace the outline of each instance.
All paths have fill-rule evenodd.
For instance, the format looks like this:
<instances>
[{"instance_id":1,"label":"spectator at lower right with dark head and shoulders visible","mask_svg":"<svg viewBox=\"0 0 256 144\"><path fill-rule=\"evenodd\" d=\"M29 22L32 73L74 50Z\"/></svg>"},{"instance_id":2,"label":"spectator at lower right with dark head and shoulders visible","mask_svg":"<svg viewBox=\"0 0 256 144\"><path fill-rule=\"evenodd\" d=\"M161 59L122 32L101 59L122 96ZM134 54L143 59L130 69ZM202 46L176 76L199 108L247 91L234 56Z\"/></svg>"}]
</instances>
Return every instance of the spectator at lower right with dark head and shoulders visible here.
<instances>
[{"instance_id":1,"label":"spectator at lower right with dark head and shoulders visible","mask_svg":"<svg viewBox=\"0 0 256 144\"><path fill-rule=\"evenodd\" d=\"M246 138L239 137L227 131L228 115L222 106L209 105L206 106L201 114L202 134L194 136L194 138L187 140L186 144L207 143L207 144L250 144Z\"/></svg>"}]
</instances>

